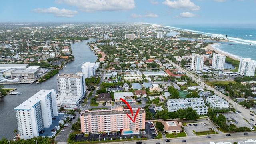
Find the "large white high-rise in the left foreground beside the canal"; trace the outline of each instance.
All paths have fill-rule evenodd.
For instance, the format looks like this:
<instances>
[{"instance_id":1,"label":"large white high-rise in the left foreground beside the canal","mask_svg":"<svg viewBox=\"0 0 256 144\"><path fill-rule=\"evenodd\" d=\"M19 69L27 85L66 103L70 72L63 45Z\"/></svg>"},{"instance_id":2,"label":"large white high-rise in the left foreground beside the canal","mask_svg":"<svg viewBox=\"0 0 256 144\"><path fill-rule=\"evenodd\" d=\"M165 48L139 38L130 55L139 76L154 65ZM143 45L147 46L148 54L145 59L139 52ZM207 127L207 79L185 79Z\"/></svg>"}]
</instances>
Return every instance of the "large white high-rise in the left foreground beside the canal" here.
<instances>
[{"instance_id":1,"label":"large white high-rise in the left foreground beside the canal","mask_svg":"<svg viewBox=\"0 0 256 144\"><path fill-rule=\"evenodd\" d=\"M14 110L20 138L37 137L41 130L52 125L52 118L58 116L56 92L54 89L40 90Z\"/></svg>"}]
</instances>

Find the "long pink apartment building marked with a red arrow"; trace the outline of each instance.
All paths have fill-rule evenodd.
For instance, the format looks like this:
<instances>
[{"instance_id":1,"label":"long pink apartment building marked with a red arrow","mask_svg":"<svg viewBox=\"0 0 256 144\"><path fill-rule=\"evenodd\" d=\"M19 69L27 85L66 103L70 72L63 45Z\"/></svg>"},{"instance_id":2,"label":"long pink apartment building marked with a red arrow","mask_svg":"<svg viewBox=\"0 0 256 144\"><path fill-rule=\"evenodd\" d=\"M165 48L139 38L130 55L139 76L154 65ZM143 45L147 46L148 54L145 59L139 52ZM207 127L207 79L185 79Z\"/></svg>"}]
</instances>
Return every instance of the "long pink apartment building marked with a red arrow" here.
<instances>
[{"instance_id":1,"label":"long pink apartment building marked with a red arrow","mask_svg":"<svg viewBox=\"0 0 256 144\"><path fill-rule=\"evenodd\" d=\"M123 109L122 106L111 110L94 110L81 113L81 132L98 133L98 132L114 132L114 131L138 131L145 129L144 109L140 108L135 123L130 120L128 113L134 120L134 116L138 108L132 108L133 116L130 109Z\"/></svg>"}]
</instances>

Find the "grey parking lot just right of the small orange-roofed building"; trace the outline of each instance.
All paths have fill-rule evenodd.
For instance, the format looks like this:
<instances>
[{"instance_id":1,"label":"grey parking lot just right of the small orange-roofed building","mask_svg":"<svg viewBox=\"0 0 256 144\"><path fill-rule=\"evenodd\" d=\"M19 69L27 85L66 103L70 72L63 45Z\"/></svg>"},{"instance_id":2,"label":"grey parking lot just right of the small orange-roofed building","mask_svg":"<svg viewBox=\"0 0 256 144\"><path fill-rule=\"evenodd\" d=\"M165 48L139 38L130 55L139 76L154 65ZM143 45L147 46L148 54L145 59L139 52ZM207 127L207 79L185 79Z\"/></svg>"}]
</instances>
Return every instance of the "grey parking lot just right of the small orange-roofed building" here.
<instances>
[{"instance_id":1,"label":"grey parking lot just right of the small orange-roofed building","mask_svg":"<svg viewBox=\"0 0 256 144\"><path fill-rule=\"evenodd\" d=\"M197 122L193 123L186 123L187 126L184 126L184 130L187 134L187 136L195 136L193 133L193 130L195 132L202 132L202 131L208 131L209 128L215 130L216 125L211 121L207 119L199 119ZM216 132L222 133L221 131L217 130Z\"/></svg>"}]
</instances>

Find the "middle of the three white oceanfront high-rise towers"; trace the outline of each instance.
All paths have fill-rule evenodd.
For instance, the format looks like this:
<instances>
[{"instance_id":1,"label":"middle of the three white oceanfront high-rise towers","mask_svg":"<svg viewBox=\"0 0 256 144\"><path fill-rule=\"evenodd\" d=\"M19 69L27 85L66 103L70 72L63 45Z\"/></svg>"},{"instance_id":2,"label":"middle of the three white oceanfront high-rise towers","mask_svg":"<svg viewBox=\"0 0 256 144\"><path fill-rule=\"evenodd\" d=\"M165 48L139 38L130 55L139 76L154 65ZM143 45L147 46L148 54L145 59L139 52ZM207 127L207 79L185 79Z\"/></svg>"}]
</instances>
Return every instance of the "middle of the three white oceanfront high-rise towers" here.
<instances>
[{"instance_id":1,"label":"middle of the three white oceanfront high-rise towers","mask_svg":"<svg viewBox=\"0 0 256 144\"><path fill-rule=\"evenodd\" d=\"M212 68L214 70L224 70L226 56L222 54L213 54Z\"/></svg>"}]
</instances>

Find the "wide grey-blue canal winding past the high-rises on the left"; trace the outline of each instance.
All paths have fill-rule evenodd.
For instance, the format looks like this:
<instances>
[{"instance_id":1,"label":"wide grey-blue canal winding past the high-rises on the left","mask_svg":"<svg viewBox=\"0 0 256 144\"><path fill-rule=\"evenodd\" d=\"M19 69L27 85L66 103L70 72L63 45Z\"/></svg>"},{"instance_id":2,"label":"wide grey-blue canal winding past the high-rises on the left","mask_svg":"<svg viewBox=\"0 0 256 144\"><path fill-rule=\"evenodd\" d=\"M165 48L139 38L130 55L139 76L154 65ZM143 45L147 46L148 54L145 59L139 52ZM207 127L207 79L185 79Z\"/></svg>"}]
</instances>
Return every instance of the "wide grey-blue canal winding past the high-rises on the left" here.
<instances>
[{"instance_id":1,"label":"wide grey-blue canal winding past the high-rises on the left","mask_svg":"<svg viewBox=\"0 0 256 144\"><path fill-rule=\"evenodd\" d=\"M65 64L65 67L59 71L62 73L82 72L84 62L94 63L98 57L93 53L86 44L95 39L84 40L71 44L72 53L75 60ZM15 92L22 92L20 95L6 95L0 98L0 139L7 138L12 140L15 136L13 131L18 129L14 108L22 102L36 94L42 89L55 89L57 91L57 74L52 78L39 84L5 84L4 88L17 88Z\"/></svg>"}]
</instances>

